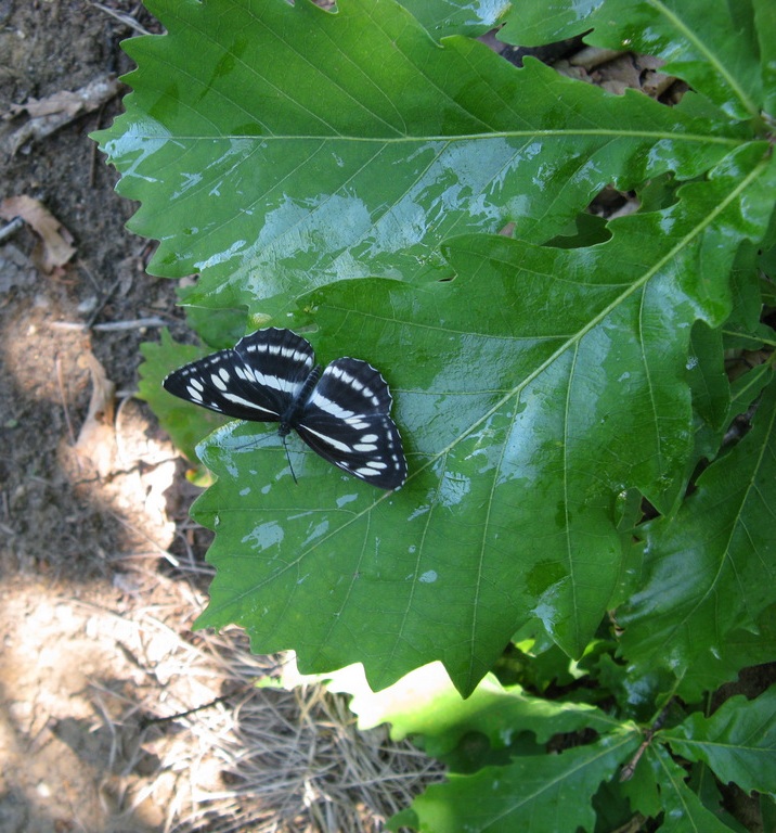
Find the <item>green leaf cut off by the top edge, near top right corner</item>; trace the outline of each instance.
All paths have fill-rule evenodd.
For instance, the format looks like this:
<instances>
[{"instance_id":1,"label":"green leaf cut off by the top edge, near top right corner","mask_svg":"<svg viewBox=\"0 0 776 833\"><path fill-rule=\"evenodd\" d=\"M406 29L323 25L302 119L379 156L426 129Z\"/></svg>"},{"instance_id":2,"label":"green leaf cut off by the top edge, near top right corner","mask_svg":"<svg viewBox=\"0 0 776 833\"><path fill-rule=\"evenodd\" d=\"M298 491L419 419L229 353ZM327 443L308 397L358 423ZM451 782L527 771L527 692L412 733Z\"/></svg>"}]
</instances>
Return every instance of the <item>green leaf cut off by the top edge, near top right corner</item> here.
<instances>
[{"instance_id":1,"label":"green leaf cut off by the top edge, near top right corner","mask_svg":"<svg viewBox=\"0 0 776 833\"><path fill-rule=\"evenodd\" d=\"M760 3L760 20L773 21ZM541 7L526 2L539 17ZM553 13L540 17L535 28L523 28L521 4L515 3L500 38L525 43L523 38L549 40L581 35L587 43L636 51L663 59L662 72L677 75L735 118L758 118L763 100L763 74L773 79L769 47L760 67L760 42L748 0L577 0L553 3ZM586 12L591 12L585 14ZM762 29L763 42L773 42ZM546 42L546 41L543 41Z\"/></svg>"}]
</instances>

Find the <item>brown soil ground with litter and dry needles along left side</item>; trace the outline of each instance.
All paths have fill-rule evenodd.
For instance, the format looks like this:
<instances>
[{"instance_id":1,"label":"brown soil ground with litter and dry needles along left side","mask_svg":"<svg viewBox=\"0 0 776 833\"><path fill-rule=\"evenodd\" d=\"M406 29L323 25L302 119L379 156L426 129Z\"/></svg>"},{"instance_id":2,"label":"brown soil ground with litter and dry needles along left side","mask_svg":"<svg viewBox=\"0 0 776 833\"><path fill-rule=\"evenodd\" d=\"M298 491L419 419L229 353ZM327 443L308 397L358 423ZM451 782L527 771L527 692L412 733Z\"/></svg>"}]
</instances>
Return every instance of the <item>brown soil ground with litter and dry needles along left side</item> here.
<instances>
[{"instance_id":1,"label":"brown soil ground with litter and dry needles along left side","mask_svg":"<svg viewBox=\"0 0 776 833\"><path fill-rule=\"evenodd\" d=\"M140 344L185 331L88 138L135 26L159 31L132 0L0 0L0 230L3 201L33 215L0 240L0 833L375 830L425 758L190 631L208 534L132 398ZM62 97L95 81L88 112Z\"/></svg>"}]
</instances>

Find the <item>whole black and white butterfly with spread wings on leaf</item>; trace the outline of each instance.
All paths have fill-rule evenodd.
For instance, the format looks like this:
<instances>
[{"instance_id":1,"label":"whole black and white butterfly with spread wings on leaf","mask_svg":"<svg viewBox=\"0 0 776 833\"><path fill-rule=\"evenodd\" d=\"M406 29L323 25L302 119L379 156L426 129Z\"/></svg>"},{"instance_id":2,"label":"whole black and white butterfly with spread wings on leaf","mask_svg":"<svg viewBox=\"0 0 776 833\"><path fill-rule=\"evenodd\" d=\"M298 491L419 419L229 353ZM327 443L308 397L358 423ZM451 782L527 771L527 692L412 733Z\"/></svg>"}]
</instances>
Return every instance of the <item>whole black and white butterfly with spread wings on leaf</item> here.
<instances>
[{"instance_id":1,"label":"whole black and white butterfly with spread wings on leaf","mask_svg":"<svg viewBox=\"0 0 776 833\"><path fill-rule=\"evenodd\" d=\"M380 489L406 479L392 398L379 371L361 359L337 359L325 370L305 338L274 326L257 330L173 371L167 390L238 420L280 422L348 474Z\"/></svg>"}]
</instances>

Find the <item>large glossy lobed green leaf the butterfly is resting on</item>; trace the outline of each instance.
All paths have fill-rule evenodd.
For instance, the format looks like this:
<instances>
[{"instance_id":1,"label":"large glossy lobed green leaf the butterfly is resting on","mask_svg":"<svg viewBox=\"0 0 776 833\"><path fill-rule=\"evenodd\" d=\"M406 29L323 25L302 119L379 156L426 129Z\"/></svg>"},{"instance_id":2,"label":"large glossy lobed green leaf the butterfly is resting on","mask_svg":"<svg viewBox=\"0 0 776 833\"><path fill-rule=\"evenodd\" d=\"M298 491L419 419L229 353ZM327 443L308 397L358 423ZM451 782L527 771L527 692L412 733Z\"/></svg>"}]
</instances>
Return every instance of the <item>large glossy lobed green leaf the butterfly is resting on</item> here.
<instances>
[{"instance_id":1,"label":"large glossy lobed green leaf the butterfly is resting on","mask_svg":"<svg viewBox=\"0 0 776 833\"><path fill-rule=\"evenodd\" d=\"M271 433L260 450L261 428L214 435L219 480L195 514L217 529L218 572L199 626L240 623L305 671L361 661L378 688L441 659L468 693L531 616L580 655L618 579L617 496L635 485L670 507L682 488L691 323L729 310L735 252L719 240L762 233L765 164L738 153L589 249L462 238L453 281L309 296L297 321L325 333L325 359L401 357L387 377L410 477L376 494L293 446L296 486Z\"/></svg>"}]
</instances>

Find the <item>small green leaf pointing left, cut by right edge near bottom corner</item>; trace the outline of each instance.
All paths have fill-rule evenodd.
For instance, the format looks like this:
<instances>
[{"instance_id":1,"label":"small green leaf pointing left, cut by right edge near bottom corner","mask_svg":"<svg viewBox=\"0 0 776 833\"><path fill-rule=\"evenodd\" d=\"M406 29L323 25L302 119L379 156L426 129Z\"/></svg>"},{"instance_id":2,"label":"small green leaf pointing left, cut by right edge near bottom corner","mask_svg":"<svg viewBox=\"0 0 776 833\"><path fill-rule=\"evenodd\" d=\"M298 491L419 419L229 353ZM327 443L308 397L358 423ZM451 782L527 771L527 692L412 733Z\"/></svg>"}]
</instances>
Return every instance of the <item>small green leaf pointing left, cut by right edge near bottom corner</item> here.
<instances>
[{"instance_id":1,"label":"small green leaf pointing left, cut by right edge near bottom corner","mask_svg":"<svg viewBox=\"0 0 776 833\"><path fill-rule=\"evenodd\" d=\"M747 793L776 784L776 688L755 700L730 697L711 716L696 713L660 732L676 755L708 764L723 784Z\"/></svg>"}]
</instances>

